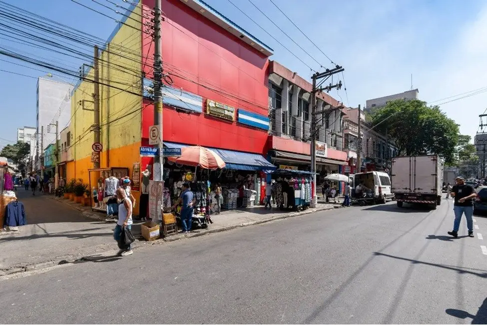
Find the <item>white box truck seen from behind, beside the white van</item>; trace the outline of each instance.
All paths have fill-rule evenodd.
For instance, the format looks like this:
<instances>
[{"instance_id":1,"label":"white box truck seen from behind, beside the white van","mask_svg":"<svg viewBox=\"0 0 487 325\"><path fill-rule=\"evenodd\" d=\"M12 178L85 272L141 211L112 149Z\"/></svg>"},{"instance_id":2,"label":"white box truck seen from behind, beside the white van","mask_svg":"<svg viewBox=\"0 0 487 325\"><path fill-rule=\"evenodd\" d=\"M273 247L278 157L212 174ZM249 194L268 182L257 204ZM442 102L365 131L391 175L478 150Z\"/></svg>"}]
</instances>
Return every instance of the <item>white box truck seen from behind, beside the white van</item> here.
<instances>
[{"instance_id":1,"label":"white box truck seen from behind, beside the white van","mask_svg":"<svg viewBox=\"0 0 487 325\"><path fill-rule=\"evenodd\" d=\"M443 161L436 154L395 157L391 168L392 192L399 207L404 202L430 204L442 202Z\"/></svg>"}]
</instances>

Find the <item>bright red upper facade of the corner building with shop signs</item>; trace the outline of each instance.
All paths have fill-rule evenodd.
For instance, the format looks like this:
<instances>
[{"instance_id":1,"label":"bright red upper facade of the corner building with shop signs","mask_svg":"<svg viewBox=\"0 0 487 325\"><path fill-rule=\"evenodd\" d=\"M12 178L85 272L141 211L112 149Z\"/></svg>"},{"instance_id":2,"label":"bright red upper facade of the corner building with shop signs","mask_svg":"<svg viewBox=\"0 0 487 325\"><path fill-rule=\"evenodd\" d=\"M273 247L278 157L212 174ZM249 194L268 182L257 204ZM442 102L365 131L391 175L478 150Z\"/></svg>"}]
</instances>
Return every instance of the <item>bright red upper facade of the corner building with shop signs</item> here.
<instances>
[{"instance_id":1,"label":"bright red upper facade of the corner building with shop signs","mask_svg":"<svg viewBox=\"0 0 487 325\"><path fill-rule=\"evenodd\" d=\"M268 55L272 49L203 1L162 2L163 69L173 80L165 97L186 101L182 105L165 101L164 142L265 154L267 130L240 123L239 115L255 114L257 121L268 117ZM144 11L150 12L153 1L143 0L143 4ZM150 18L143 18L143 23L149 24ZM142 42L142 52L149 58L142 62L143 71L152 78L154 45L151 37ZM208 112L208 103L225 107L224 118ZM150 100L144 100L143 106L141 132L142 145L146 145L154 108Z\"/></svg>"}]
</instances>

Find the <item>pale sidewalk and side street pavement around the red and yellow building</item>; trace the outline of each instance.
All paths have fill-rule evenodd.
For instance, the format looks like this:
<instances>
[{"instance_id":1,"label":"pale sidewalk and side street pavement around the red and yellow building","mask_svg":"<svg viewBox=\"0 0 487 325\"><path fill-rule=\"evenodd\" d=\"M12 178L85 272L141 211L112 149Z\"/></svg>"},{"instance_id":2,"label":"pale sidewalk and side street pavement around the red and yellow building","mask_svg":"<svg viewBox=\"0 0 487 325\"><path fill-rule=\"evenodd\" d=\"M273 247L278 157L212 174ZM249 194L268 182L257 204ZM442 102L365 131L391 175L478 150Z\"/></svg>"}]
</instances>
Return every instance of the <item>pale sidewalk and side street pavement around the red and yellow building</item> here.
<instances>
[{"instance_id":1,"label":"pale sidewalk and side street pavement around the red and yellow building","mask_svg":"<svg viewBox=\"0 0 487 325\"><path fill-rule=\"evenodd\" d=\"M117 249L112 236L115 223L105 222L104 213L52 195L32 196L20 190L18 198L24 203L28 225L19 227L18 232L3 233L0 236L0 275L42 268ZM138 249L165 241L332 209L335 206L338 205L319 203L316 208L300 212L276 208L267 210L263 206L227 210L212 215L213 223L207 229L196 229L188 234L180 233L150 242L141 238L140 224L143 222L139 221L132 226L132 232L139 237L134 247Z\"/></svg>"}]
</instances>

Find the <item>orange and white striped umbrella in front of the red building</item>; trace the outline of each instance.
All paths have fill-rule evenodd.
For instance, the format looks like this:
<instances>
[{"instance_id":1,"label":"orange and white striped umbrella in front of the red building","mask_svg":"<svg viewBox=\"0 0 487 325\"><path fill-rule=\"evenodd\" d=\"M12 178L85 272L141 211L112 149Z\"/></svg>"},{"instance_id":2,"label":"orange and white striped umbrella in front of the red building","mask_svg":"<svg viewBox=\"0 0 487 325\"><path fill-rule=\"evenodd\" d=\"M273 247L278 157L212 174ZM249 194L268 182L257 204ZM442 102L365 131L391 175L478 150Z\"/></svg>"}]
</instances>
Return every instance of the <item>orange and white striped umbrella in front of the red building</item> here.
<instances>
[{"instance_id":1,"label":"orange and white striped umbrella in front of the red building","mask_svg":"<svg viewBox=\"0 0 487 325\"><path fill-rule=\"evenodd\" d=\"M168 157L167 159L184 165L200 166L205 169L225 167L225 162L215 151L200 145L183 146L179 157Z\"/></svg>"}]
</instances>

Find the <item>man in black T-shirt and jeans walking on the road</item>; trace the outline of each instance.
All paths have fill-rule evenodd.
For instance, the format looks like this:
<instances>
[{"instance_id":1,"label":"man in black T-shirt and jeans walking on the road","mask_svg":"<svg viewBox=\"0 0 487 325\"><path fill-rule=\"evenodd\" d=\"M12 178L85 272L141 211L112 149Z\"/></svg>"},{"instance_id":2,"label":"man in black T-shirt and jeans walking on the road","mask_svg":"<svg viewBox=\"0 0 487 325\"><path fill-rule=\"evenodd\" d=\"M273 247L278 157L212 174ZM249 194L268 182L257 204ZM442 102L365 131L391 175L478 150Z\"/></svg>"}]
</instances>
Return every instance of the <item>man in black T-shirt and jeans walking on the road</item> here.
<instances>
[{"instance_id":1,"label":"man in black T-shirt and jeans walking on the road","mask_svg":"<svg viewBox=\"0 0 487 325\"><path fill-rule=\"evenodd\" d=\"M469 228L469 237L474 236L474 221L472 214L474 214L474 198L477 196L474 187L465 183L463 177L458 176L455 181L457 185L453 186L452 196L455 198L455 222L453 223L453 231L448 231L449 235L458 237L458 229L460 228L460 221L462 214L465 213L467 218L467 227Z\"/></svg>"}]
</instances>

